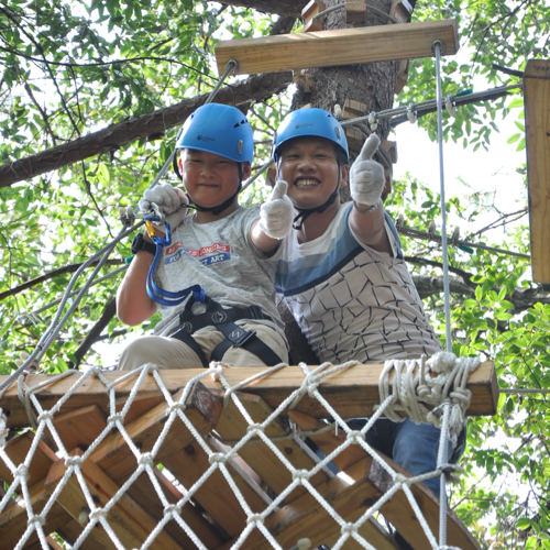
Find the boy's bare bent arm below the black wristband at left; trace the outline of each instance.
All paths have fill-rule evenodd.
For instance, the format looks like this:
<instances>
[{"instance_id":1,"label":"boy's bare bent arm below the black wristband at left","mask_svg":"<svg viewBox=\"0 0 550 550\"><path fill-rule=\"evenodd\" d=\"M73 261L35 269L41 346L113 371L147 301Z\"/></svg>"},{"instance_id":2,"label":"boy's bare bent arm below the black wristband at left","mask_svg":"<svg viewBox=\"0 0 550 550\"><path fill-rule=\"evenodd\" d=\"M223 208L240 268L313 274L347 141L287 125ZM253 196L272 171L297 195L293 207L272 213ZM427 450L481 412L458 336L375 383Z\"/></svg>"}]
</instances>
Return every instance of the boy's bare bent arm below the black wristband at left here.
<instances>
[{"instance_id":1,"label":"boy's bare bent arm below the black wristband at left","mask_svg":"<svg viewBox=\"0 0 550 550\"><path fill-rule=\"evenodd\" d=\"M145 241L153 242L145 232ZM139 251L117 292L117 317L125 324L140 324L156 312L156 302L148 297L146 280L153 254Z\"/></svg>"}]
</instances>

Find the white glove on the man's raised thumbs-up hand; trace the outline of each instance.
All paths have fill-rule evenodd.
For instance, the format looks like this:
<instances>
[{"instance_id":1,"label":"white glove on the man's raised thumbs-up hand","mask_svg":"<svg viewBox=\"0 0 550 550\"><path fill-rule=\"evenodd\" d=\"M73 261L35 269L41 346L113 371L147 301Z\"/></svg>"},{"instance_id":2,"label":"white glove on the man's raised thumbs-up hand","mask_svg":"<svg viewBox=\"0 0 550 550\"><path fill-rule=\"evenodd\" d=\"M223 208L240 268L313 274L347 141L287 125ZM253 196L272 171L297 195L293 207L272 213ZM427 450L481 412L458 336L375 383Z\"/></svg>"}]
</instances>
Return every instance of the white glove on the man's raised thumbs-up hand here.
<instances>
[{"instance_id":1,"label":"white glove on the man's raised thumbs-up hand","mask_svg":"<svg viewBox=\"0 0 550 550\"><path fill-rule=\"evenodd\" d=\"M376 205L382 196L386 183L384 168L376 161L371 160L378 144L378 136L371 134L351 167L351 198L355 202Z\"/></svg>"}]
</instances>

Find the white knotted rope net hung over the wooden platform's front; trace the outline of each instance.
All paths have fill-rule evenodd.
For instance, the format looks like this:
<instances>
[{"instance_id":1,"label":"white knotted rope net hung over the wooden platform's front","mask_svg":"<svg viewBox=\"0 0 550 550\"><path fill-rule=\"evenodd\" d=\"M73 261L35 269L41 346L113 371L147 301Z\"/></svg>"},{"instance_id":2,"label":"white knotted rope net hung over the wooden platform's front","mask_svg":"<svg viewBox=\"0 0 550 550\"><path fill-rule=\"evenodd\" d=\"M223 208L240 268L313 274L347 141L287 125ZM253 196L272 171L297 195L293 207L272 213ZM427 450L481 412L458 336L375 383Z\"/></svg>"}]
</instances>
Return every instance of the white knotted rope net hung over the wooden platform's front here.
<instances>
[{"instance_id":1,"label":"white knotted rope net hung over the wooden platform's front","mask_svg":"<svg viewBox=\"0 0 550 550\"><path fill-rule=\"evenodd\" d=\"M356 362L312 371L300 364L304 382L277 406L254 386L284 364L232 385L234 370L211 363L179 389L166 380L182 372L153 364L121 375L64 373L32 387L21 375L19 399L34 429L0 448L0 476L10 484L0 503L2 548L58 548L55 532L74 549L389 549L398 547L375 516L402 530L409 509L417 518L407 525L414 548L437 549L435 497L418 483L451 466L410 476L365 433L381 416L403 420L405 411L415 421L441 424L442 441L452 438L462 429L466 380L479 364L449 353L386 362L382 403L361 430L350 429L341 406L319 391ZM44 408L61 383L67 391ZM94 397L98 386L102 399ZM317 418L298 410L304 399ZM3 414L1 421L6 433ZM461 532L453 536L461 548L479 548Z\"/></svg>"}]
</instances>

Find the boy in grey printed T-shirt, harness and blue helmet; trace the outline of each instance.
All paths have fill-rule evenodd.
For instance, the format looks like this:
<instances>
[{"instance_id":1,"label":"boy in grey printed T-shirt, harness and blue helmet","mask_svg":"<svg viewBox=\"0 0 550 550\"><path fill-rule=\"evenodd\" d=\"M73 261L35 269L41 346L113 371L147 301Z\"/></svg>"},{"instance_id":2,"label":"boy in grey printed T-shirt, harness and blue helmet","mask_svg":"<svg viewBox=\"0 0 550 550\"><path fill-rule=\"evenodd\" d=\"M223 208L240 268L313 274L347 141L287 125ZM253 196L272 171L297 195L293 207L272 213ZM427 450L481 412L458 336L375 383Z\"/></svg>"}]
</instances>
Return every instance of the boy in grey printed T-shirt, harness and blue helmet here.
<instances>
[{"instance_id":1,"label":"boy in grey printed T-shirt, harness and blue helmet","mask_svg":"<svg viewBox=\"0 0 550 550\"><path fill-rule=\"evenodd\" d=\"M148 362L183 369L210 361L239 366L288 361L273 283L280 238L292 224L288 216L282 223L277 212L292 207L283 184L262 210L239 205L253 147L249 121L234 107L209 103L187 119L175 157L186 193L162 185L140 201L142 211L154 206L166 216L169 242L155 255L151 237L138 235L117 295L123 322L139 324L157 310L162 321L154 336L123 351L120 370ZM193 295L190 288L182 290L191 285Z\"/></svg>"}]
</instances>

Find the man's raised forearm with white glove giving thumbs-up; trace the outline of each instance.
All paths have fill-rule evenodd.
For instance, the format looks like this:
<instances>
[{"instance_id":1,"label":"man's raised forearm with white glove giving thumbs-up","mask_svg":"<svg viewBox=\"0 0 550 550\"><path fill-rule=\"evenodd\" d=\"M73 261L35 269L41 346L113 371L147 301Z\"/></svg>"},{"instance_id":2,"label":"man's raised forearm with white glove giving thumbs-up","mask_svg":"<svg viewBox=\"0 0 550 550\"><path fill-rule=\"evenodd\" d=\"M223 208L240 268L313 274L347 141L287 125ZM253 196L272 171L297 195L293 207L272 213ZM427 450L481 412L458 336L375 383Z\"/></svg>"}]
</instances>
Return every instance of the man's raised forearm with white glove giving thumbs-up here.
<instances>
[{"instance_id":1,"label":"man's raised forearm with white glove giving thumbs-up","mask_svg":"<svg viewBox=\"0 0 550 550\"><path fill-rule=\"evenodd\" d=\"M353 209L350 213L350 228L362 243L377 252L392 254L381 198L385 183L384 168L371 158L378 144L378 136L372 134L351 167Z\"/></svg>"}]
</instances>

